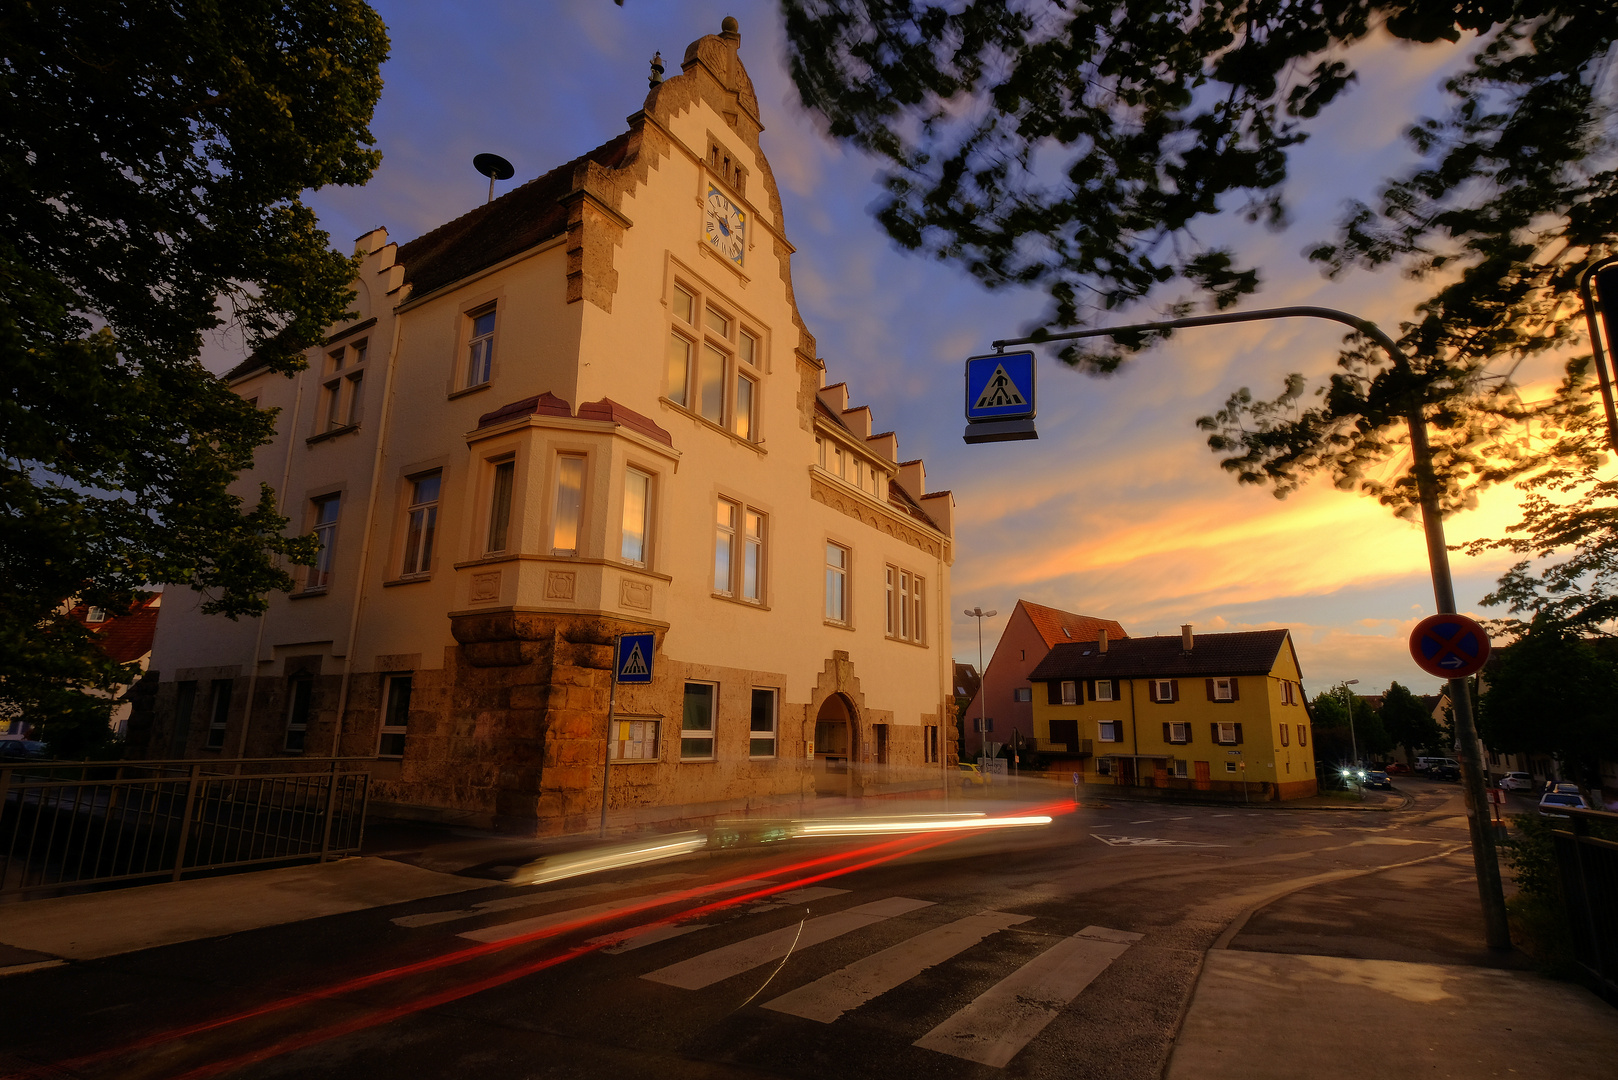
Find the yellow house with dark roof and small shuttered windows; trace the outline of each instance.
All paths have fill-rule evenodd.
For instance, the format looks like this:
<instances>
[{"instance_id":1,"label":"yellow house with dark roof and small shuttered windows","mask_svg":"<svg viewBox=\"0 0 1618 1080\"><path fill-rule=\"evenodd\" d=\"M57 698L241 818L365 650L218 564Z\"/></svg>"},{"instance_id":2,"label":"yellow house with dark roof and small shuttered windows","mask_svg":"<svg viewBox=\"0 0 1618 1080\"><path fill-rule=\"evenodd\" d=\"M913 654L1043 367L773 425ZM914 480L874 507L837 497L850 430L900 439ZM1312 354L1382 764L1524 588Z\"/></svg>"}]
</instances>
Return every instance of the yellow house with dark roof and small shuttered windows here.
<instances>
[{"instance_id":1,"label":"yellow house with dark roof and small shuttered windows","mask_svg":"<svg viewBox=\"0 0 1618 1080\"><path fill-rule=\"evenodd\" d=\"M1029 672L1034 737L1087 784L1315 793L1291 633L1065 641ZM1040 688L1044 683L1044 688Z\"/></svg>"}]
</instances>

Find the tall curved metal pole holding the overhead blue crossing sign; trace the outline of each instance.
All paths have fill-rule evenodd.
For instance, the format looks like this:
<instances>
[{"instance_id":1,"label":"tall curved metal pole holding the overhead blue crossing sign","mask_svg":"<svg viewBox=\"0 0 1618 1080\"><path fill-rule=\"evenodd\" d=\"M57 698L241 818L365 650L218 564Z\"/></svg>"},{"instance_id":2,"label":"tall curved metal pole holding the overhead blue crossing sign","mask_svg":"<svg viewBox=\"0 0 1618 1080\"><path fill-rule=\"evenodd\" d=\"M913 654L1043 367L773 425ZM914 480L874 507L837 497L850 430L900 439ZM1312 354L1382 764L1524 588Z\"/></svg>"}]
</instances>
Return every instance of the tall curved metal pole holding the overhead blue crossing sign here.
<instances>
[{"instance_id":1,"label":"tall curved metal pole holding the overhead blue crossing sign","mask_svg":"<svg viewBox=\"0 0 1618 1080\"><path fill-rule=\"evenodd\" d=\"M1069 330L1066 334L1042 334L1039 337L1002 338L993 342L995 351L1003 351L1006 345L1039 345L1045 342L1074 342L1086 337L1116 337L1120 334L1139 334L1142 330L1180 330L1201 325L1230 325L1236 322L1267 322L1270 319L1328 319L1353 327L1359 334L1375 342L1393 361L1393 368L1401 374L1411 374L1409 359L1388 334L1369 319L1338 311L1335 308L1262 308L1259 311L1230 311L1214 316L1191 316L1188 319L1170 319L1167 322L1136 322L1133 325L1100 327L1095 330ZM1443 542L1443 513L1438 508L1438 479L1432 471L1432 445L1427 442L1427 416L1421 402L1411 402L1404 421L1411 432L1411 457L1416 465L1416 491L1421 502L1421 523L1427 536L1427 567L1432 573L1434 601L1438 614L1455 615L1455 580L1450 576L1450 552ZM1482 743L1477 738L1477 724L1472 719L1472 695L1464 678L1450 680L1450 701L1455 703L1455 733L1463 746L1461 782L1466 784L1471 810L1466 814L1466 826L1472 836L1472 866L1477 871L1477 895L1484 908L1484 934L1490 949L1510 949L1511 929L1506 925L1506 897L1500 884L1500 857L1495 852L1495 834L1482 818L1482 806L1487 805L1484 792Z\"/></svg>"}]
</instances>

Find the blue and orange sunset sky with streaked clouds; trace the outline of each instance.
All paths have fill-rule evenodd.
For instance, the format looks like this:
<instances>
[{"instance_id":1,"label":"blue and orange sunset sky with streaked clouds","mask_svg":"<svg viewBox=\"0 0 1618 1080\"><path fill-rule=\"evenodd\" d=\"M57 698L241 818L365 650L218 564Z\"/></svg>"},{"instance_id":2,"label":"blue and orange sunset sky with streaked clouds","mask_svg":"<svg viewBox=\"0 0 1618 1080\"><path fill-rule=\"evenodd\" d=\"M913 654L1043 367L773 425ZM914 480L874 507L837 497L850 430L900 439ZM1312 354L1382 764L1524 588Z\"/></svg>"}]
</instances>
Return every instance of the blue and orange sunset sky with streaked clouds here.
<instances>
[{"instance_id":1,"label":"blue and orange sunset sky with streaked clouds","mask_svg":"<svg viewBox=\"0 0 1618 1080\"><path fill-rule=\"evenodd\" d=\"M1037 442L961 442L961 368L989 342L1026 330L1037 291L987 293L961 270L901 253L870 219L874 160L815 130L783 63L780 13L767 0L657 3L375 3L393 40L372 131L383 164L362 189L311 196L343 249L372 227L398 241L481 204L487 180L471 159L492 151L516 165L498 189L576 157L625 130L662 50L678 73L686 44L741 23L741 57L759 92L764 149L781 186L798 248L798 303L854 405L877 431L895 429L901 458L924 457L929 487L956 504L955 656L977 662L963 607L1018 597L1120 620L1131 635L1288 627L1306 687L1358 678L1361 693L1398 680L1430 693L1438 680L1409 659L1406 635L1432 614L1421 528L1372 500L1317 484L1286 500L1238 487L1196 431L1241 385L1273 395L1290 371L1328 372L1343 329L1288 322L1183 332L1110 379L1040 359ZM1244 306L1322 304L1396 330L1422 287L1396 272L1328 282L1301 251L1327 238L1348 198L1374 198L1406 162L1401 130L1459 49L1372 42L1356 57L1359 86L1293 159L1281 233L1238 220L1204 228L1262 267L1265 288ZM1225 232L1228 230L1228 232ZM1146 317L1147 313L1142 313ZM1514 492L1448 523L1450 541L1498 536ZM1508 563L1455 554L1456 597L1474 615Z\"/></svg>"}]
</instances>

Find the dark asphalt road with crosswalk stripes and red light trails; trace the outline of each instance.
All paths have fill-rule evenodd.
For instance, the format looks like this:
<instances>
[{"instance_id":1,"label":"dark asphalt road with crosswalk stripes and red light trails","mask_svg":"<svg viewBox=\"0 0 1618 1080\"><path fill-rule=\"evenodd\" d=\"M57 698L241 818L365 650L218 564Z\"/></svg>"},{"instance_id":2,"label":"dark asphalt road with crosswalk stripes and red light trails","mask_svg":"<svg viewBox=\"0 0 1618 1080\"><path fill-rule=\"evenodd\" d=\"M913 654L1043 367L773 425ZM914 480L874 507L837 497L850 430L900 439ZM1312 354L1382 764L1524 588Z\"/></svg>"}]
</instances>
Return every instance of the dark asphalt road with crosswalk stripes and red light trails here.
<instances>
[{"instance_id":1,"label":"dark asphalt road with crosswalk stripes and red light trails","mask_svg":"<svg viewBox=\"0 0 1618 1080\"><path fill-rule=\"evenodd\" d=\"M0 1074L1155 1078L1222 936L1502 963L1458 787L1400 790L696 853L74 963L6 980Z\"/></svg>"}]
</instances>

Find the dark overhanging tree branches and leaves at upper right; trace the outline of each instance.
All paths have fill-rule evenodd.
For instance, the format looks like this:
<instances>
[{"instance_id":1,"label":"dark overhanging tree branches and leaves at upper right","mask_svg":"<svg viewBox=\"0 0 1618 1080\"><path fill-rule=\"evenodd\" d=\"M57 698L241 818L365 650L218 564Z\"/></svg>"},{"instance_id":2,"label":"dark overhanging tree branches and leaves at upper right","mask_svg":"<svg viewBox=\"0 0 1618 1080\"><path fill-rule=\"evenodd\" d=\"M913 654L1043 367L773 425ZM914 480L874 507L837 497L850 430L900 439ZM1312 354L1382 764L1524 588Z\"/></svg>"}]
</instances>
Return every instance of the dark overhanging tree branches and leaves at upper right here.
<instances>
[{"instance_id":1,"label":"dark overhanging tree branches and leaves at upper right","mask_svg":"<svg viewBox=\"0 0 1618 1080\"><path fill-rule=\"evenodd\" d=\"M1349 207L1309 254L1327 272L1396 266L1434 291L1401 325L1400 371L1349 337L1309 393L1243 389L1205 416L1239 481L1278 495L1325 473L1401 513L1403 418L1425 410L1446 507L1476 487L1586 460L1560 427L1584 408L1586 361L1555 402L1510 372L1568 350L1578 272L1618 240L1608 0L783 0L791 74L835 138L882 159L877 220L904 248L990 288L1042 287L1044 329L1152 306L1178 316L1254 293L1257 267L1199 240L1239 212L1286 220L1288 154L1358 81L1354 49L1464 42L1442 117L1413 117L1421 165ZM1112 316L1108 321L1123 322ZM1099 338L1100 340L1100 338ZM1154 335L1061 358L1110 372ZM1523 421L1540 421L1526 439Z\"/></svg>"}]
</instances>

